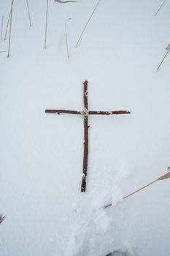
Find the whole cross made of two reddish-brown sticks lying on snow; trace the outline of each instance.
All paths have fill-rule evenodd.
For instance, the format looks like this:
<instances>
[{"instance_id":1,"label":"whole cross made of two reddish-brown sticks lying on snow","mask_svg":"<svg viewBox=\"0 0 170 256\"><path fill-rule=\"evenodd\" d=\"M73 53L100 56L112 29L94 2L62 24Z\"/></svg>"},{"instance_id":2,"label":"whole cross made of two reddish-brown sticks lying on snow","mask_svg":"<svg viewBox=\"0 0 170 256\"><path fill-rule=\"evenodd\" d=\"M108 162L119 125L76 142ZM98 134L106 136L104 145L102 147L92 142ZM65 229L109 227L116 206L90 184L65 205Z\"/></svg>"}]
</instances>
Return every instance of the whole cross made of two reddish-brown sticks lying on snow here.
<instances>
[{"instance_id":1,"label":"whole cross made of two reddish-brown sticks lying on snow","mask_svg":"<svg viewBox=\"0 0 170 256\"><path fill-rule=\"evenodd\" d=\"M81 192L85 192L86 189L86 178L88 174L88 116L89 115L123 115L130 114L131 112L126 110L117 111L89 111L88 110L88 81L85 80L83 83L83 97L84 97L84 110L74 111L74 110L45 110L45 113L67 113L72 115L80 115L84 119L84 158L83 158L83 169L82 169L82 187Z\"/></svg>"}]
</instances>

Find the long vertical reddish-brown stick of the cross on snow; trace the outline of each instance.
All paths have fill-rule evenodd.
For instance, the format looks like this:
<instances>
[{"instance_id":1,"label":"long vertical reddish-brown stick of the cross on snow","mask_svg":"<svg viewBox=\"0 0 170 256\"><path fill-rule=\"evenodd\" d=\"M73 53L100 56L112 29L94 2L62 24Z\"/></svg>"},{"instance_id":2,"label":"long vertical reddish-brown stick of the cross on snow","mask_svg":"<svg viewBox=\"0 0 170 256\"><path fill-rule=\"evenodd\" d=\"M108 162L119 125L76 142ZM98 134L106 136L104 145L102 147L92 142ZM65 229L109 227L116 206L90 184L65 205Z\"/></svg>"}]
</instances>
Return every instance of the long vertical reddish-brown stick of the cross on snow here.
<instances>
[{"instance_id":1,"label":"long vertical reddish-brown stick of the cross on snow","mask_svg":"<svg viewBox=\"0 0 170 256\"><path fill-rule=\"evenodd\" d=\"M84 159L81 192L85 192L88 170L88 81L84 82Z\"/></svg>"}]
</instances>

